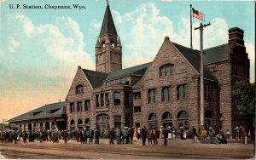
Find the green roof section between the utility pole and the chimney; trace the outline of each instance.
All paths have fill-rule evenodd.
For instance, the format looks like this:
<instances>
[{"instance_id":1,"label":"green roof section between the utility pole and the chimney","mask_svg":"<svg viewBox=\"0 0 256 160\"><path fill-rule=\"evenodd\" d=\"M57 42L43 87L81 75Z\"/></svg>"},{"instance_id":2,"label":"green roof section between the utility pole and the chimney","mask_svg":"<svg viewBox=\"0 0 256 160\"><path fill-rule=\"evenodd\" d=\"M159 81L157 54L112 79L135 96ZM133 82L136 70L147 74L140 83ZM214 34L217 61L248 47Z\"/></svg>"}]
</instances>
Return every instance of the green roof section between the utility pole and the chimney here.
<instances>
[{"instance_id":1,"label":"green roof section between the utility pole and the chimney","mask_svg":"<svg viewBox=\"0 0 256 160\"><path fill-rule=\"evenodd\" d=\"M219 45L210 49L204 49L204 63L210 64L220 60L229 59L228 44Z\"/></svg>"}]
</instances>

